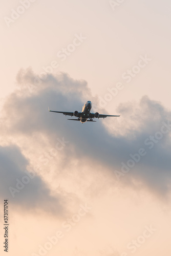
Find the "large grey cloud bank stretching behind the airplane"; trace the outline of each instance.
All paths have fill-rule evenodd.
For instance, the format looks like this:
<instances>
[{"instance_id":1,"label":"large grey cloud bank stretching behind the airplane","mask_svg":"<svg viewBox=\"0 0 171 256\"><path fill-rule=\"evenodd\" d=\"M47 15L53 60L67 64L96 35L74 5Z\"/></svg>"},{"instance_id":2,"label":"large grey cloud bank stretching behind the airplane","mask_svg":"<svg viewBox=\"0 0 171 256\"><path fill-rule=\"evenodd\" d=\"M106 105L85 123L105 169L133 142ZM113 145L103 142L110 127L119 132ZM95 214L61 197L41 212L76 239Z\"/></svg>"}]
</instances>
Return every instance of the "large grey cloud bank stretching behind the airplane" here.
<instances>
[{"instance_id":1,"label":"large grey cloud bank stretching behind the airplane","mask_svg":"<svg viewBox=\"0 0 171 256\"><path fill-rule=\"evenodd\" d=\"M160 102L144 96L139 103L123 103L118 107L121 113L117 135L110 134L102 120L96 123L68 121L67 117L49 113L48 106L58 111L80 111L86 100L92 100L91 92L85 81L77 81L67 74L49 75L46 81L29 92L26 83L33 82L35 75L31 71L20 72L17 80L19 91L11 94L4 105L4 130L12 134L32 136L42 133L51 143L56 137L65 137L70 143L64 148L66 165L74 158L79 166L92 164L92 172L96 163L104 166L104 172L121 171L122 162L131 159L130 154L138 153L144 148L145 156L130 168L120 181L147 187L165 195L170 191L170 130L162 134L162 138L153 142L150 136L161 135L163 122L171 121L171 114ZM167 127L165 126L165 130ZM164 131L165 131L164 130Z\"/></svg>"}]
</instances>

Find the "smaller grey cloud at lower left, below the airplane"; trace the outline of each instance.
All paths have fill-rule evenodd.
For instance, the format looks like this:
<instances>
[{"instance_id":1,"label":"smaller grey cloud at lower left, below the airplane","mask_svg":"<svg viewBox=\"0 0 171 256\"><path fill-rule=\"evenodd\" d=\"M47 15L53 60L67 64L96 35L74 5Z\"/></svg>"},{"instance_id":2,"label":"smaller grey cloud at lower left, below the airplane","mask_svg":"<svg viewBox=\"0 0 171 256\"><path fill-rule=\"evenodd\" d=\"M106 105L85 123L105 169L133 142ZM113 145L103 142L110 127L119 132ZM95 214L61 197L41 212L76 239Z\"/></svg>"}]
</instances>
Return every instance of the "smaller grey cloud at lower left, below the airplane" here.
<instances>
[{"instance_id":1,"label":"smaller grey cloud at lower left, below the airplane","mask_svg":"<svg viewBox=\"0 0 171 256\"><path fill-rule=\"evenodd\" d=\"M63 200L51 196L46 183L34 172L27 171L29 161L15 145L0 146L0 195L23 209L62 212Z\"/></svg>"}]
</instances>

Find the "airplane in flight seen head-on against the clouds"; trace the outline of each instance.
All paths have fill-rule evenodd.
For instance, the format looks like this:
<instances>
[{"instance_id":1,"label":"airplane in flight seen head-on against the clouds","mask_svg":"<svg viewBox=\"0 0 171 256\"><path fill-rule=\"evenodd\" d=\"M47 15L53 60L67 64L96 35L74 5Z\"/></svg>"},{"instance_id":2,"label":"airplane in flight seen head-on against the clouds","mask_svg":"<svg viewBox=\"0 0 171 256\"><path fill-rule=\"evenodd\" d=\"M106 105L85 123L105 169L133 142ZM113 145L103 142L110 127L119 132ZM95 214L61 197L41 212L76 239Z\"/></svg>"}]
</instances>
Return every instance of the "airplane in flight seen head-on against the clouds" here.
<instances>
[{"instance_id":1,"label":"airplane in flight seen head-on against the clouds","mask_svg":"<svg viewBox=\"0 0 171 256\"><path fill-rule=\"evenodd\" d=\"M108 116L113 116L113 115L103 115L103 114L99 114L98 112L96 113L91 113L90 110L92 108L92 102L90 100L88 100L82 107L82 112L78 112L78 111L74 111L74 112L61 112L61 111L53 111L50 110L50 112L55 112L55 113L62 113L63 115L66 116L75 116L77 117L77 119L68 119L68 120L74 120L74 121L80 121L81 123L85 123L85 122L96 122L93 120L93 118L105 118ZM90 120L89 120L90 119Z\"/></svg>"}]
</instances>

